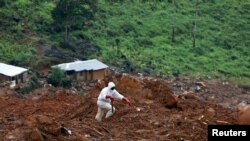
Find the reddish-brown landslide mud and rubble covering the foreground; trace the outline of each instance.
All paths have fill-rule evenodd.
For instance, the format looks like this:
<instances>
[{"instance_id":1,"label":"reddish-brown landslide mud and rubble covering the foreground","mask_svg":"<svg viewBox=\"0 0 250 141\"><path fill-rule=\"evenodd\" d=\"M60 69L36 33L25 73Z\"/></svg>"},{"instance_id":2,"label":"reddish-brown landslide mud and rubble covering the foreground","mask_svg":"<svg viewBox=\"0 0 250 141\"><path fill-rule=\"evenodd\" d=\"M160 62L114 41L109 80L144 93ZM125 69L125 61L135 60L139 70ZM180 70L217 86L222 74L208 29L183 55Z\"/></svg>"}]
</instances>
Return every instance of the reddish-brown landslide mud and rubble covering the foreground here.
<instances>
[{"instance_id":1,"label":"reddish-brown landslide mud and rubble covering the foreground","mask_svg":"<svg viewBox=\"0 0 250 141\"><path fill-rule=\"evenodd\" d=\"M132 105L115 101L117 111L113 117L97 122L96 100L109 81L117 84L116 89ZM86 95L43 87L20 96L14 90L1 88L0 140L206 141L208 124L237 124L237 104L250 101L247 88L204 79L169 82L115 75L79 85Z\"/></svg>"}]
</instances>

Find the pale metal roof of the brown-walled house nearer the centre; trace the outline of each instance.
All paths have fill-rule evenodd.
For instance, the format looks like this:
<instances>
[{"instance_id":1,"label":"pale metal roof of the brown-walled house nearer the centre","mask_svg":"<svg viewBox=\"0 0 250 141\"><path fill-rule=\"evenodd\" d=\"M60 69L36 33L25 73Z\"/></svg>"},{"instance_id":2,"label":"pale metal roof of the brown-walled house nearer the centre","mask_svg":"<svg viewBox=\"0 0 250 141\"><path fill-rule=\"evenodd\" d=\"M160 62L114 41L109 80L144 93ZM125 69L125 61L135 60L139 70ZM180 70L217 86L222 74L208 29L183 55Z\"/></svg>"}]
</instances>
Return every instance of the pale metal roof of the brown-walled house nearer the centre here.
<instances>
[{"instance_id":1,"label":"pale metal roof of the brown-walled house nearer the centre","mask_svg":"<svg viewBox=\"0 0 250 141\"><path fill-rule=\"evenodd\" d=\"M105 69L108 67L107 65L98 61L97 59L86 60L86 61L75 61L71 63L59 64L56 66L65 71L74 70L76 72L83 71L83 70L100 70L100 69ZM56 66L53 66L53 67L56 67Z\"/></svg>"}]
</instances>

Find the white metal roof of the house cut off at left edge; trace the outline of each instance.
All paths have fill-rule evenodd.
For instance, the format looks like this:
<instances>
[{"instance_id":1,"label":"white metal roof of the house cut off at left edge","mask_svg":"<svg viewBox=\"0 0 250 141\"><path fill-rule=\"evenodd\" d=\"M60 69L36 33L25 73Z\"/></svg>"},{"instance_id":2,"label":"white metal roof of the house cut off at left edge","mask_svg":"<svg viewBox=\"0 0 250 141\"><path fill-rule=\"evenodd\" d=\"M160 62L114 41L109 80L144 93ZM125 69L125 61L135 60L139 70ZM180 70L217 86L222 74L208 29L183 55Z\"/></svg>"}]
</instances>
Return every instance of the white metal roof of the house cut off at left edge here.
<instances>
[{"instance_id":1,"label":"white metal roof of the house cut off at left edge","mask_svg":"<svg viewBox=\"0 0 250 141\"><path fill-rule=\"evenodd\" d=\"M3 74L5 76L13 77L27 70L28 69L25 69L25 68L0 63L0 74Z\"/></svg>"}]
</instances>

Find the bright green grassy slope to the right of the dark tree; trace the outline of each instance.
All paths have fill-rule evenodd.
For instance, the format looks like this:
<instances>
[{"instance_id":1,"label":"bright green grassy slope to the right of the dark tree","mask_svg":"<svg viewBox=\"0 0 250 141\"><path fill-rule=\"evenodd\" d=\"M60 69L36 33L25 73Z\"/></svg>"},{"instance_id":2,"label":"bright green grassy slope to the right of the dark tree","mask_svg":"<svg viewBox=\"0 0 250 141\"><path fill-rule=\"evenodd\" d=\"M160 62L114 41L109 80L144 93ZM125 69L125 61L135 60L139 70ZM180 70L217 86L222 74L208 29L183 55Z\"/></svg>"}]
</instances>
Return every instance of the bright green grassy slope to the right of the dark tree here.
<instances>
[{"instance_id":1,"label":"bright green grassy slope to the right of the dark tree","mask_svg":"<svg viewBox=\"0 0 250 141\"><path fill-rule=\"evenodd\" d=\"M94 31L97 35L93 42L102 47L103 58L108 62L122 61L119 56L113 55L120 48L138 68L150 68L154 74L171 75L177 70L183 75L211 75L249 81L247 58L250 51L245 45L248 41L244 40L245 35L250 35L245 30L249 26L237 26L246 22L239 17L239 10L248 2L239 4L227 0L209 5L208 2L201 2L195 48L192 47L191 35L195 18L192 2L178 1L176 43L171 42L173 9L167 2L135 1L133 5L123 2L115 6L101 3L100 7L105 11L101 16L106 18L95 21L88 33L91 35ZM237 5L232 5L235 3ZM211 9L214 11L211 12ZM118 47L115 39L119 39Z\"/></svg>"}]
</instances>

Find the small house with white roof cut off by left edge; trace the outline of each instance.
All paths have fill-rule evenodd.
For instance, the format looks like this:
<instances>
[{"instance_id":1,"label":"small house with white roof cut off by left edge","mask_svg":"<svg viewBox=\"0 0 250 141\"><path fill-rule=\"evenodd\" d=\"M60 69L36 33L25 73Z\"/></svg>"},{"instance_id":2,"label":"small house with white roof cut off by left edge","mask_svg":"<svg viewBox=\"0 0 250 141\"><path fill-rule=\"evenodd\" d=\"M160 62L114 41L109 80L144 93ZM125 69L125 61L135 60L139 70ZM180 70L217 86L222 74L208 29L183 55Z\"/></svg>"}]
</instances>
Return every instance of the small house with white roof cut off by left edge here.
<instances>
[{"instance_id":1,"label":"small house with white roof cut off by left edge","mask_svg":"<svg viewBox=\"0 0 250 141\"><path fill-rule=\"evenodd\" d=\"M0 63L0 83L10 82L10 87L27 81L28 69Z\"/></svg>"}]
</instances>

